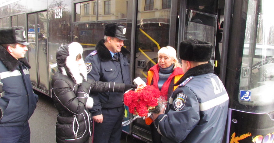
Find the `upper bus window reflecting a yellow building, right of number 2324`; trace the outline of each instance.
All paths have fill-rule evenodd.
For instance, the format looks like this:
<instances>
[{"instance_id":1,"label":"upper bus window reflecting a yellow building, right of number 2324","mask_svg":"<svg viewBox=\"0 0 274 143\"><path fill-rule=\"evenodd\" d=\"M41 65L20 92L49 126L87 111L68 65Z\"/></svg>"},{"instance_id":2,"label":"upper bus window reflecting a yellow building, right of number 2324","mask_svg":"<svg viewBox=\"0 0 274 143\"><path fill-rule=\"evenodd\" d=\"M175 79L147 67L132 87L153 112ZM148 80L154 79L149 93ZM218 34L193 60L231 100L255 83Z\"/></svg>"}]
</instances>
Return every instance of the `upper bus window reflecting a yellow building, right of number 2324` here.
<instances>
[{"instance_id":1,"label":"upper bus window reflecting a yellow building, right of number 2324","mask_svg":"<svg viewBox=\"0 0 274 143\"><path fill-rule=\"evenodd\" d=\"M74 22L125 19L127 17L127 1L99 1L98 16L96 0L76 3L74 17Z\"/></svg>"}]
</instances>

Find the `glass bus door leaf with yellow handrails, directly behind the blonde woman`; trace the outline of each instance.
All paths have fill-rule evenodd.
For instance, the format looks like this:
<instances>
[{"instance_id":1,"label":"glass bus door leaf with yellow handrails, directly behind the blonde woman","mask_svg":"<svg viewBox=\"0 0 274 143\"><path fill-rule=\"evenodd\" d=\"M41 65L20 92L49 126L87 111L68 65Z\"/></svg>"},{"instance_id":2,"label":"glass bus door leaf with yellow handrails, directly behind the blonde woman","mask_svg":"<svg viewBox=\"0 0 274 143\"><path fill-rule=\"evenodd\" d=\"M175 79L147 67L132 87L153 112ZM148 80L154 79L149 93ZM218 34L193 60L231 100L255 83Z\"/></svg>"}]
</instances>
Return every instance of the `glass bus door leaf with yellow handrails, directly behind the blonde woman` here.
<instances>
[{"instance_id":1,"label":"glass bus door leaf with yellow handrails, directly behind the blonde woman","mask_svg":"<svg viewBox=\"0 0 274 143\"><path fill-rule=\"evenodd\" d=\"M158 63L161 47L169 45L177 50L177 2L180 1L138 1L134 78L147 77L148 70ZM149 126L143 119L133 122L132 134L152 141Z\"/></svg>"}]
</instances>

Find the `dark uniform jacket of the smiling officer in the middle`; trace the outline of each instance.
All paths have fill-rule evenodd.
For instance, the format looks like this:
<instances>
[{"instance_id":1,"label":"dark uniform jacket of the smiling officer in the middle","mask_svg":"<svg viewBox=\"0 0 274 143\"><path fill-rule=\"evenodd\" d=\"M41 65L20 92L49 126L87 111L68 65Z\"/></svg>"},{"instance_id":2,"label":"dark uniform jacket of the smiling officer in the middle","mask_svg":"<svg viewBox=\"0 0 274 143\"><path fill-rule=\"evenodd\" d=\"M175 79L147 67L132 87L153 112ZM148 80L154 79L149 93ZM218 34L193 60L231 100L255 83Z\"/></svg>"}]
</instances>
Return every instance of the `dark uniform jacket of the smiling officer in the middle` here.
<instances>
[{"instance_id":1,"label":"dark uniform jacket of the smiling officer in the middle","mask_svg":"<svg viewBox=\"0 0 274 143\"><path fill-rule=\"evenodd\" d=\"M111 57L110 51L104 45L104 39L97 43L95 50L85 59L88 78L103 82L131 83L127 59L130 53L125 47L118 52L119 60ZM102 114L101 108L124 106L123 95L124 93L118 92L93 94L94 106L90 110L92 116Z\"/></svg>"}]
</instances>

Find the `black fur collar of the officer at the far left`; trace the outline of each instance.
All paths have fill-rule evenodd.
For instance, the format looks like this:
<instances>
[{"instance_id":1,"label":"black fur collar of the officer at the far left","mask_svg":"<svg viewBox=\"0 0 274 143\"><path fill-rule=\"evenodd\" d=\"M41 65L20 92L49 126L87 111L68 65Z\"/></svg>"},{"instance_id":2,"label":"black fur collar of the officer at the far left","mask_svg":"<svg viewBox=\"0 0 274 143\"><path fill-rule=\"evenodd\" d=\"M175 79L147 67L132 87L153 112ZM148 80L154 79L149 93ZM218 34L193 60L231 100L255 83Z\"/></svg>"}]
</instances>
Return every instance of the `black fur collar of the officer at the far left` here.
<instances>
[{"instance_id":1,"label":"black fur collar of the officer at the far left","mask_svg":"<svg viewBox=\"0 0 274 143\"><path fill-rule=\"evenodd\" d=\"M0 45L0 60L10 72L14 71L18 67L19 61L26 65L26 67L31 68L26 58L16 60L16 58L9 54L2 45Z\"/></svg>"}]
</instances>

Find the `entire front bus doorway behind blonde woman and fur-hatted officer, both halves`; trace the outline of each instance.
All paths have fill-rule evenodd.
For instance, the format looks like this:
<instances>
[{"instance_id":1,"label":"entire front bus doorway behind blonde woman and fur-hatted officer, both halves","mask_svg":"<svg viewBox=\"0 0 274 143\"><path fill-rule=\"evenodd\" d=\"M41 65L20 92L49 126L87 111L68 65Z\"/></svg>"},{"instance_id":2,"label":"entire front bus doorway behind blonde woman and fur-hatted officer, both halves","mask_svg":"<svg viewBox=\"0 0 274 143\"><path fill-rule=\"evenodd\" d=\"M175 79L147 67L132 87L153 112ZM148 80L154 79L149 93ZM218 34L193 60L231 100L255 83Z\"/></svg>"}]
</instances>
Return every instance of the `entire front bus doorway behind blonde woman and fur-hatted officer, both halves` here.
<instances>
[{"instance_id":1,"label":"entire front bus doorway behind blonde woman and fur-hatted officer, both halves","mask_svg":"<svg viewBox=\"0 0 274 143\"><path fill-rule=\"evenodd\" d=\"M217 0L138 1L135 77L147 77L149 68L158 63L157 52L161 47L169 45L178 51L179 43L185 39L215 45L217 5ZM212 63L213 59L214 48ZM143 119L133 122L132 134L150 140L149 133Z\"/></svg>"}]
</instances>

